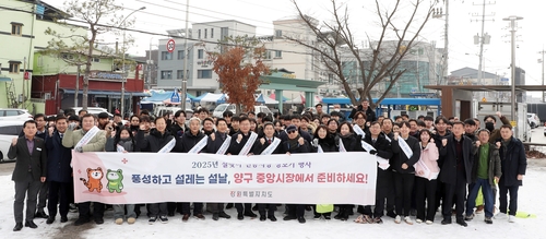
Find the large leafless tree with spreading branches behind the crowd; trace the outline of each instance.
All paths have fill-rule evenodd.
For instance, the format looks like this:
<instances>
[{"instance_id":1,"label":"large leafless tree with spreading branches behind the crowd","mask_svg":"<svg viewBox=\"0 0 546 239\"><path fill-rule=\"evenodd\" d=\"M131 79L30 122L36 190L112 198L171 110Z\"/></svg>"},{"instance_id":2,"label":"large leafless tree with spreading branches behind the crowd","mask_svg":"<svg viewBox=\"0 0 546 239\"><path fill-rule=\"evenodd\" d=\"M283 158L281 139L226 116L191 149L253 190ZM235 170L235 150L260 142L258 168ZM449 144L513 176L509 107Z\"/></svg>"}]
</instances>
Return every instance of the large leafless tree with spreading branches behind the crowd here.
<instances>
[{"instance_id":1,"label":"large leafless tree with spreading branches behind the crowd","mask_svg":"<svg viewBox=\"0 0 546 239\"><path fill-rule=\"evenodd\" d=\"M286 38L317 52L322 68L335 75L353 105L359 105L365 99L371 104L372 88L384 83L384 92L377 101L380 103L407 70L401 68L400 63L417 41L436 4L436 1L432 1L430 5L425 5L425 0L413 0L410 4L412 8L408 11L410 14L404 15L406 12L402 9L410 8L404 7L407 1L393 1L394 4L391 8L383 9L380 0L376 0L375 11L380 34L379 36L368 35L368 47L360 46L359 40L355 39L353 34L355 28L349 25L348 7L343 7L336 0L331 0L332 21L322 22L322 24L318 24L317 20L305 14L297 0L292 0L298 16L312 32L313 37L317 36L317 40L306 41L289 36ZM422 12L424 16L419 15ZM404 17L405 21L397 21L399 17ZM393 40L389 39L390 35L394 36ZM371 40L372 38L376 40ZM355 62L353 65L356 70L356 73L353 72L351 76L356 79L351 82L347 77L348 62Z\"/></svg>"}]
</instances>

